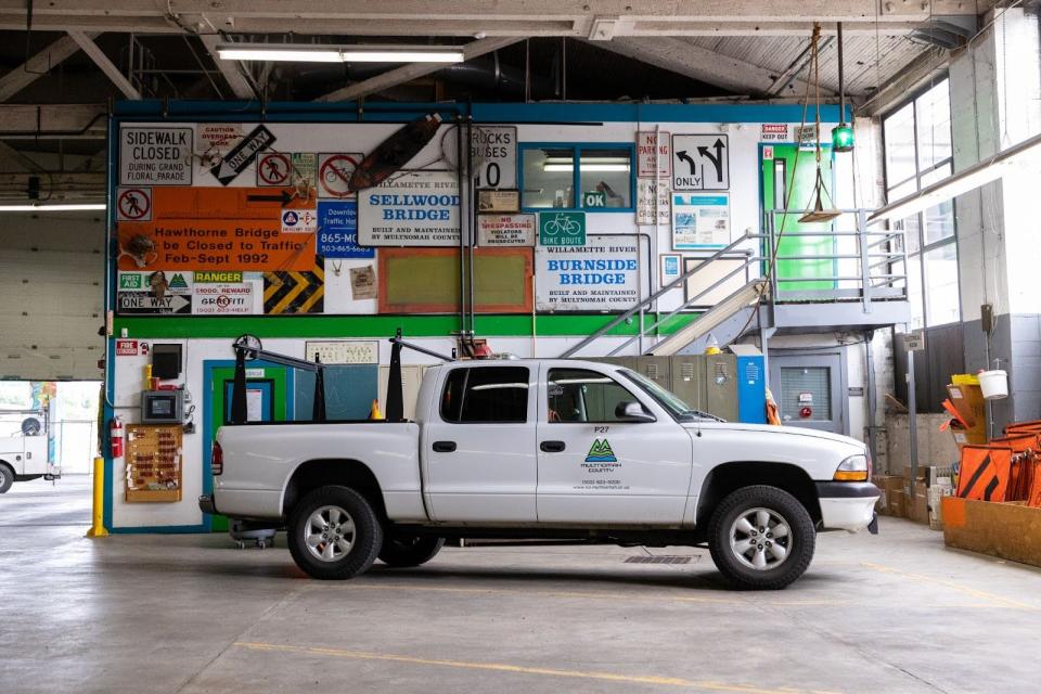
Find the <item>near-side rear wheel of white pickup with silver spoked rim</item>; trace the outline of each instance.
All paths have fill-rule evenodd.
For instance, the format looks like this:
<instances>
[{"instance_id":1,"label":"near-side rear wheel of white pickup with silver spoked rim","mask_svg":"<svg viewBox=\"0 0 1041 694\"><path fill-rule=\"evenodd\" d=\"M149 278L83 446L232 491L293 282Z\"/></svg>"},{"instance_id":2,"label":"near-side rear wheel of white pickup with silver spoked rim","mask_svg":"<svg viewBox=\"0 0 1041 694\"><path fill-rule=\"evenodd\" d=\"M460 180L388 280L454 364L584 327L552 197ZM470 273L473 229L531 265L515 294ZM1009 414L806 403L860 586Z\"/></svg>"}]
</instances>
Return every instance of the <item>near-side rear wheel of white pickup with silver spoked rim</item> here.
<instances>
[{"instance_id":1,"label":"near-side rear wheel of white pickup with silver spoked rim","mask_svg":"<svg viewBox=\"0 0 1041 694\"><path fill-rule=\"evenodd\" d=\"M290 553L311 578L343 580L369 570L383 548L372 505L347 487L319 487L293 507Z\"/></svg>"}]
</instances>

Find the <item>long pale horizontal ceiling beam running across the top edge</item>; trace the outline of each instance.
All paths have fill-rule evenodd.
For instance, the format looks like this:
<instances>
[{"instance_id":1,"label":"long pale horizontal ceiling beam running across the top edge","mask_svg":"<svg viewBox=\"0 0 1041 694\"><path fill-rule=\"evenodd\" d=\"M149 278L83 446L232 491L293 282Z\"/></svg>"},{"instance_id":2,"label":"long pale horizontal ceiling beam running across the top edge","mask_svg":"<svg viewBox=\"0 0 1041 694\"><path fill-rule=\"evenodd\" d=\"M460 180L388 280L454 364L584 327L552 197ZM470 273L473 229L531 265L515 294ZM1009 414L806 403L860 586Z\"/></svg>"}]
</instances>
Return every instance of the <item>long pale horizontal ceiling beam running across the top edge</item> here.
<instances>
[{"instance_id":1,"label":"long pale horizontal ceiling beam running across the top edge","mask_svg":"<svg viewBox=\"0 0 1041 694\"><path fill-rule=\"evenodd\" d=\"M905 34L930 16L985 12L964 0L453 0L446 10L428 0L49 0L34 8L38 30L183 34L203 30L350 36L574 36L588 37L597 17L614 36L805 35L814 22L825 33L876 29ZM25 1L0 0L0 28L25 29Z\"/></svg>"}]
</instances>

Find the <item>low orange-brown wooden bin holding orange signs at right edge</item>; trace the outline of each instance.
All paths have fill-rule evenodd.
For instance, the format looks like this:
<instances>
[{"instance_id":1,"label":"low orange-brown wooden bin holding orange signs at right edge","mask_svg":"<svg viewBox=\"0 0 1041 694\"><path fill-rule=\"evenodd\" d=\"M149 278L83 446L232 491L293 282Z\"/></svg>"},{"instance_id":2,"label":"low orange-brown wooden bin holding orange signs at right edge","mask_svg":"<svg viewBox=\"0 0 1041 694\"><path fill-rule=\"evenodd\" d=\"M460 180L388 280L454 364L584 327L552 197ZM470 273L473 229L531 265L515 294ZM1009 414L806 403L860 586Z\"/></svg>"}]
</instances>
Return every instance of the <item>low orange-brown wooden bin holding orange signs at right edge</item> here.
<instances>
[{"instance_id":1,"label":"low orange-brown wooden bin holding orange signs at right edge","mask_svg":"<svg viewBox=\"0 0 1041 694\"><path fill-rule=\"evenodd\" d=\"M1041 566L1041 509L943 497L943 542L961 550Z\"/></svg>"}]
</instances>

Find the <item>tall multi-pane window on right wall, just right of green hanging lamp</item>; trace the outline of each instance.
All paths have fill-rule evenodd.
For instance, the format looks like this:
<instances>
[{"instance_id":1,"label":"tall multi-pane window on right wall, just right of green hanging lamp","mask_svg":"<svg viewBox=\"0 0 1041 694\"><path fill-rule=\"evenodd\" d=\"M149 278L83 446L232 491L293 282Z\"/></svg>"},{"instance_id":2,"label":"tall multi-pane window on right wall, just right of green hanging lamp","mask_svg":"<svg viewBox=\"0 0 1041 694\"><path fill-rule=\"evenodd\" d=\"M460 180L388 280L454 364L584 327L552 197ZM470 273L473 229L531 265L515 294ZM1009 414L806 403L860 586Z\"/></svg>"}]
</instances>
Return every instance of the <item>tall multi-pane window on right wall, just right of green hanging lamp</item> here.
<instances>
[{"instance_id":1,"label":"tall multi-pane window on right wall, just right of green hanging lamp","mask_svg":"<svg viewBox=\"0 0 1041 694\"><path fill-rule=\"evenodd\" d=\"M888 202L907 197L953 172L947 79L884 117L882 130ZM954 201L891 223L904 232L912 327L961 320ZM899 273L900 268L894 268L894 272Z\"/></svg>"}]
</instances>

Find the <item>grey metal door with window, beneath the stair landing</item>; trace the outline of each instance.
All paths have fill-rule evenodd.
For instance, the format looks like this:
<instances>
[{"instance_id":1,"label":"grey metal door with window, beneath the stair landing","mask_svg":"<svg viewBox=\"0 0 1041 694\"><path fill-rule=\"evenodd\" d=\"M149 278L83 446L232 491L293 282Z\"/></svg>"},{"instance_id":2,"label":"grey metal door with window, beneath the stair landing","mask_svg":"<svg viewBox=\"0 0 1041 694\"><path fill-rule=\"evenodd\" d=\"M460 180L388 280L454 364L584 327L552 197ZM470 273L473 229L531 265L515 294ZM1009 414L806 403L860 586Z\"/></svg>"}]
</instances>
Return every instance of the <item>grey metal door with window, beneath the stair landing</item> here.
<instances>
[{"instance_id":1,"label":"grey metal door with window, beneath the stair landing","mask_svg":"<svg viewBox=\"0 0 1041 694\"><path fill-rule=\"evenodd\" d=\"M785 426L849 434L839 352L770 355L770 384Z\"/></svg>"}]
</instances>

